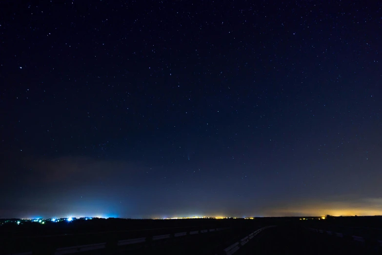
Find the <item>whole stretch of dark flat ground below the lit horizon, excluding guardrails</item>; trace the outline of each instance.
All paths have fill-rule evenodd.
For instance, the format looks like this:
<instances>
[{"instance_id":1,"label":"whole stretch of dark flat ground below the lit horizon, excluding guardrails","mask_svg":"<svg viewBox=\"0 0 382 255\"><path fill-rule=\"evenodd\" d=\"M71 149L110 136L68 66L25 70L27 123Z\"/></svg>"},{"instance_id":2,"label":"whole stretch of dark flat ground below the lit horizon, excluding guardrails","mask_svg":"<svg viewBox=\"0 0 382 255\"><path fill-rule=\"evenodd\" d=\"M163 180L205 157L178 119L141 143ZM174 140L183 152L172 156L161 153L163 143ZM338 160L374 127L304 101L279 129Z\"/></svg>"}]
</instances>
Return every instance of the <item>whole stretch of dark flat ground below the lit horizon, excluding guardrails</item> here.
<instances>
[{"instance_id":1,"label":"whole stretch of dark flat ground below the lit horizon, excluding guardrails","mask_svg":"<svg viewBox=\"0 0 382 255\"><path fill-rule=\"evenodd\" d=\"M33 223L33 224L32 224ZM226 254L224 249L270 225L235 254L382 254L382 217L296 217L255 219L92 219L0 227L0 254L69 254L57 248L102 243L102 249L76 254ZM313 230L312 230L313 229ZM322 233L318 232L321 230ZM329 231L329 234L326 232ZM336 233L341 233L341 237ZM163 235L163 236L162 236ZM357 240L353 238L357 236ZM143 241L118 245L118 241ZM362 237L361 239L359 237Z\"/></svg>"}]
</instances>

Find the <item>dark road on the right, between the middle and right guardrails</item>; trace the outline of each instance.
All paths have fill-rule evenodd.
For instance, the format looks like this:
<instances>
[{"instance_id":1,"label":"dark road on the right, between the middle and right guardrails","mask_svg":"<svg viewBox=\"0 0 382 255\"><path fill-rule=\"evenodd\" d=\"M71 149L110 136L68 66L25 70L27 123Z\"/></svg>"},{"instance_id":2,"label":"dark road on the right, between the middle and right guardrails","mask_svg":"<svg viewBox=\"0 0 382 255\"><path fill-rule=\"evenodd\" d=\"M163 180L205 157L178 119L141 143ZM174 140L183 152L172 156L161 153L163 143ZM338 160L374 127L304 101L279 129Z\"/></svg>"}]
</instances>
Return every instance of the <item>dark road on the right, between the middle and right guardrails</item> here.
<instances>
[{"instance_id":1,"label":"dark road on the right, between the middle and right guardrails","mask_svg":"<svg viewBox=\"0 0 382 255\"><path fill-rule=\"evenodd\" d=\"M310 232L302 227L278 226L262 231L235 255L374 255L375 248L341 237Z\"/></svg>"}]
</instances>

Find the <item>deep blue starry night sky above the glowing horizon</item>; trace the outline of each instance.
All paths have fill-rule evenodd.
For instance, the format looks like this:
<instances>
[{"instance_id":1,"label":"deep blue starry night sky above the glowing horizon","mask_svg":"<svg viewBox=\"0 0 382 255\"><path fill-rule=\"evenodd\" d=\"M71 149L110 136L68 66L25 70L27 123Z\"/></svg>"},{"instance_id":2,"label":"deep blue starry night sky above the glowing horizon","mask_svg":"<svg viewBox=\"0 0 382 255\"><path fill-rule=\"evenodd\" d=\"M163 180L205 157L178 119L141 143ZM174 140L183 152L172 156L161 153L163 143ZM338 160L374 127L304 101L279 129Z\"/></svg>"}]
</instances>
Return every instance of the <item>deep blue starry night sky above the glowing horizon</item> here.
<instances>
[{"instance_id":1,"label":"deep blue starry night sky above the glowing horizon","mask_svg":"<svg viewBox=\"0 0 382 255\"><path fill-rule=\"evenodd\" d=\"M381 2L40 2L0 5L0 217L382 215Z\"/></svg>"}]
</instances>

